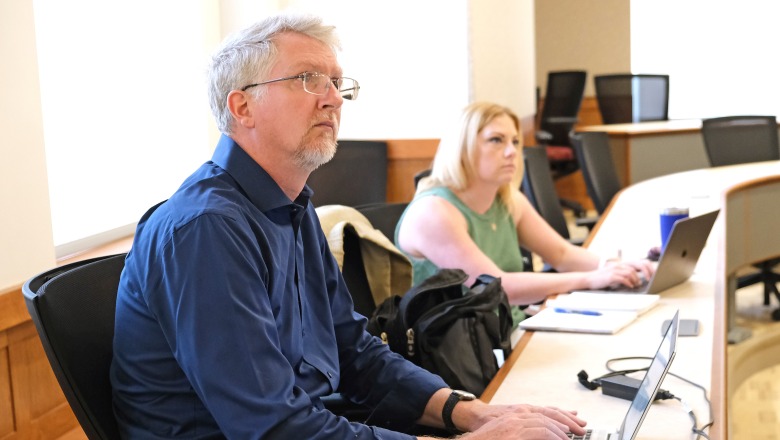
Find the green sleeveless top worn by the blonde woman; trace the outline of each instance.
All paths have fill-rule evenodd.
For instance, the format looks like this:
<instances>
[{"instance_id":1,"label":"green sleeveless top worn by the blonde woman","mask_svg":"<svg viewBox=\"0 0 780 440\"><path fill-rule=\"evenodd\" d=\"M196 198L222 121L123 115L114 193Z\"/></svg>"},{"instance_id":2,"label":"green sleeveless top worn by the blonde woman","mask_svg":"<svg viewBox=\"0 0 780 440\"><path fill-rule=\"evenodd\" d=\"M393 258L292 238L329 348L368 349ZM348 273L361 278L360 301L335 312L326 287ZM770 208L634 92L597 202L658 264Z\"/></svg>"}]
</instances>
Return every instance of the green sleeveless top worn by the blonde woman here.
<instances>
[{"instance_id":1,"label":"green sleeveless top worn by the blonde woman","mask_svg":"<svg viewBox=\"0 0 780 440\"><path fill-rule=\"evenodd\" d=\"M409 203L411 206L423 197L436 196L452 203L466 219L468 233L474 243L493 262L506 272L522 272L523 257L520 255L520 246L517 241L517 228L515 227L509 210L501 200L496 197L493 204L484 214L474 212L463 203L455 193L446 187L435 187L423 191L414 197ZM407 208L408 209L408 208ZM403 222L406 212L401 215L398 225ZM398 245L398 227L395 233L396 246ZM400 248L400 247L399 247ZM419 284L422 280L436 273L438 266L428 259L407 255L412 262L413 282ZM512 318L517 325L525 319L525 314L518 307L512 307Z\"/></svg>"}]
</instances>

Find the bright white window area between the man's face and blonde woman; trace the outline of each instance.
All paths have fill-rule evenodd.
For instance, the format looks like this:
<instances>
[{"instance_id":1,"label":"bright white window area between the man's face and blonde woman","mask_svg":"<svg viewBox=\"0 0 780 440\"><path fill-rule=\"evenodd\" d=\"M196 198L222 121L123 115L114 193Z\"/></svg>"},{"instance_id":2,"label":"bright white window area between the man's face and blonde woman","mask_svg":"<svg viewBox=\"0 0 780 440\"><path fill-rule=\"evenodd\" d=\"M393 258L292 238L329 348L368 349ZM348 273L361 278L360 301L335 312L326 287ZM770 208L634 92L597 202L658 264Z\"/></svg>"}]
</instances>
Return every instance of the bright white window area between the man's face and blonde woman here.
<instances>
[{"instance_id":1,"label":"bright white window area between the man's face and blonde woman","mask_svg":"<svg viewBox=\"0 0 780 440\"><path fill-rule=\"evenodd\" d=\"M229 3L226 32L269 12L262 2ZM342 107L342 139L438 138L449 111L468 103L467 0L289 0L277 6L316 13L338 29L339 62L361 86L360 98Z\"/></svg>"}]
</instances>

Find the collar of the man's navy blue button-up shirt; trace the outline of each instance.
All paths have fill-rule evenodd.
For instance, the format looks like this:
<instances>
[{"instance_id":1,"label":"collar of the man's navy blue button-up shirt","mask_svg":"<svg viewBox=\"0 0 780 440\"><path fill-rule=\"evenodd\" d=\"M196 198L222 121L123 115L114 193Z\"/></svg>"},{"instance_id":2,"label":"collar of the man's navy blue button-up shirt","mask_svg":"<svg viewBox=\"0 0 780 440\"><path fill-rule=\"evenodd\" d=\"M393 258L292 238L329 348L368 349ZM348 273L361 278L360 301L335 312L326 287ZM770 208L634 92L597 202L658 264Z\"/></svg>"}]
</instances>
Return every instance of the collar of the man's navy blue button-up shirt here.
<instances>
[{"instance_id":1,"label":"collar of the man's navy blue button-up shirt","mask_svg":"<svg viewBox=\"0 0 780 440\"><path fill-rule=\"evenodd\" d=\"M260 211L266 212L290 205L290 199L276 181L229 136L220 136L211 161L235 179ZM304 185L295 203L305 207L311 195L312 190L308 185Z\"/></svg>"}]
</instances>

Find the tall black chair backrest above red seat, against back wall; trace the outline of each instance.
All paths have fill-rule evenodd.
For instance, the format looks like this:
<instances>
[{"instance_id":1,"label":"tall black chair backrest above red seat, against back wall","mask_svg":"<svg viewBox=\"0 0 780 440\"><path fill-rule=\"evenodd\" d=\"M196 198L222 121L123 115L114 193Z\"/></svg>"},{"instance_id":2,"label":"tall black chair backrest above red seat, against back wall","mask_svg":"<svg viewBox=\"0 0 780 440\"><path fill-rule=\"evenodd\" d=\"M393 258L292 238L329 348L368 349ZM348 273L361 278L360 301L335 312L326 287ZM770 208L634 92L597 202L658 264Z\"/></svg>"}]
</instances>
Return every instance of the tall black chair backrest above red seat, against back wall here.
<instances>
[{"instance_id":1,"label":"tall black chair backrest above red seat, against back wall","mask_svg":"<svg viewBox=\"0 0 780 440\"><path fill-rule=\"evenodd\" d=\"M550 145L569 145L569 132L577 123L587 73L584 70L549 72L539 130L551 135Z\"/></svg>"}]
</instances>

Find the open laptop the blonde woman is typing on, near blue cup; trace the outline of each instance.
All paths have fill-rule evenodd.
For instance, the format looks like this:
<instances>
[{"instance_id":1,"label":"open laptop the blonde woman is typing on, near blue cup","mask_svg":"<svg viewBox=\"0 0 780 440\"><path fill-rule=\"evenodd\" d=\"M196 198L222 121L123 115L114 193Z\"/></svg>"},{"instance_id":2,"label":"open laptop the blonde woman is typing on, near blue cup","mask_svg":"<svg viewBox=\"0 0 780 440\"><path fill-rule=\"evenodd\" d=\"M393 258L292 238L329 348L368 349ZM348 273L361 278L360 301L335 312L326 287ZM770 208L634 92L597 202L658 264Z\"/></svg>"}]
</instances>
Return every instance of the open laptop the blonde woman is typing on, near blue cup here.
<instances>
[{"instance_id":1,"label":"open laptop the blonde woman is typing on, near blue cup","mask_svg":"<svg viewBox=\"0 0 780 440\"><path fill-rule=\"evenodd\" d=\"M704 245L707 244L707 237L710 235L712 225L715 224L718 212L720 210L675 222L666 249L658 260L655 274L649 281L634 288L620 285L590 290L590 292L657 294L687 281L696 268Z\"/></svg>"}]
</instances>

